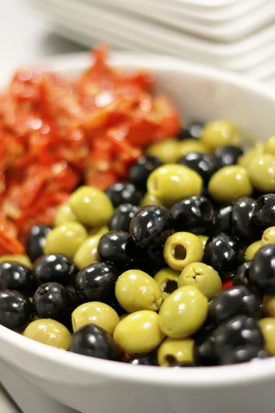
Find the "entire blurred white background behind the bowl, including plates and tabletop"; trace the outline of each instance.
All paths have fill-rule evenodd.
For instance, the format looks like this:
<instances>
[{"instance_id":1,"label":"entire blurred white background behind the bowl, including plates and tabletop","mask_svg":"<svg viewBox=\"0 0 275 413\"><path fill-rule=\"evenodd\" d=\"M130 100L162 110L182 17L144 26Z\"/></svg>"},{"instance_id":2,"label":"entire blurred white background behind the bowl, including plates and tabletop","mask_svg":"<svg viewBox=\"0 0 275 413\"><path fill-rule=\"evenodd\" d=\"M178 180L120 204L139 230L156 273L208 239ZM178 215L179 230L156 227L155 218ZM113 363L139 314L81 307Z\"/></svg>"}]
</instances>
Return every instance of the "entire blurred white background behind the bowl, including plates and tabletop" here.
<instances>
[{"instance_id":1,"label":"entire blurred white background behind the bowl, including plates and tabletop","mask_svg":"<svg viewBox=\"0 0 275 413\"><path fill-rule=\"evenodd\" d=\"M104 41L275 86L274 0L9 0L0 19L1 78L22 63Z\"/></svg>"}]
</instances>

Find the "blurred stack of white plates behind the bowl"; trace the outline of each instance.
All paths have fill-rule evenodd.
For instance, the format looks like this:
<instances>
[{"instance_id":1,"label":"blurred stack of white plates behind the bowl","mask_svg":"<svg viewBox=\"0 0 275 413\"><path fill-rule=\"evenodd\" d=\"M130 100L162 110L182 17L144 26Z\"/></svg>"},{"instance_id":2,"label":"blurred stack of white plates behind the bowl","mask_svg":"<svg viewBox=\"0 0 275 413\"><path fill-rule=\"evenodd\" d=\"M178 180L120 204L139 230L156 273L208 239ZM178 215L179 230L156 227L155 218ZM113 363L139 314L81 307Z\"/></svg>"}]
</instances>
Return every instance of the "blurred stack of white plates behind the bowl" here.
<instances>
[{"instance_id":1,"label":"blurred stack of white plates behind the bowl","mask_svg":"<svg viewBox=\"0 0 275 413\"><path fill-rule=\"evenodd\" d=\"M91 46L171 54L275 81L275 0L28 0Z\"/></svg>"}]
</instances>

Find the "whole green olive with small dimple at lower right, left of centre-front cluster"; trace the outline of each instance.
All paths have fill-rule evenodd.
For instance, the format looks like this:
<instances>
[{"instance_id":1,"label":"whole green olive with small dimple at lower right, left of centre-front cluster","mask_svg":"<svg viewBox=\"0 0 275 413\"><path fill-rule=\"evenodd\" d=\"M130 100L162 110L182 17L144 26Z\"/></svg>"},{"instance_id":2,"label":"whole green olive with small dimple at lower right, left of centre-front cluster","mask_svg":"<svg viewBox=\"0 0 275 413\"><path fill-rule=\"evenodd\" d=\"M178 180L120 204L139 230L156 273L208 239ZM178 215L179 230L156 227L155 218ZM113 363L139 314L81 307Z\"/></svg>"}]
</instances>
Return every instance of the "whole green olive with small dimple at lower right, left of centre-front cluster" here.
<instances>
[{"instance_id":1,"label":"whole green olive with small dimple at lower right, left of centre-front cluster","mask_svg":"<svg viewBox=\"0 0 275 413\"><path fill-rule=\"evenodd\" d=\"M140 270L128 270L118 277L115 297L127 313L139 310L159 310L162 290L150 275Z\"/></svg>"}]
</instances>

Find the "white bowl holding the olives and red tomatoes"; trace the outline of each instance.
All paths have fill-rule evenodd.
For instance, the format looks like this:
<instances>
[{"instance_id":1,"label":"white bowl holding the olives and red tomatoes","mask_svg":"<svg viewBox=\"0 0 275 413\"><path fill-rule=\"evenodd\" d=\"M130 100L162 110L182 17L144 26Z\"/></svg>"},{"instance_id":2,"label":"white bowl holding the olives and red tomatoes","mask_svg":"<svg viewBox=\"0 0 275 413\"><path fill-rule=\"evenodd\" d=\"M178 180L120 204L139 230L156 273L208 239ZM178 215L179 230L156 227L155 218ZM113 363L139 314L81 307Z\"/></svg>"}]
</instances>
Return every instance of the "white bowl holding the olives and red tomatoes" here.
<instances>
[{"instance_id":1,"label":"white bowl holding the olives and red tomatoes","mask_svg":"<svg viewBox=\"0 0 275 413\"><path fill-rule=\"evenodd\" d=\"M157 89L173 98L184 122L227 118L262 140L274 134L274 94L245 78L162 56L120 53L111 63L153 71ZM78 54L44 67L75 75L88 64L89 56ZM36 388L84 413L274 412L275 358L214 368L131 366L51 348L3 326L0 357Z\"/></svg>"}]
</instances>

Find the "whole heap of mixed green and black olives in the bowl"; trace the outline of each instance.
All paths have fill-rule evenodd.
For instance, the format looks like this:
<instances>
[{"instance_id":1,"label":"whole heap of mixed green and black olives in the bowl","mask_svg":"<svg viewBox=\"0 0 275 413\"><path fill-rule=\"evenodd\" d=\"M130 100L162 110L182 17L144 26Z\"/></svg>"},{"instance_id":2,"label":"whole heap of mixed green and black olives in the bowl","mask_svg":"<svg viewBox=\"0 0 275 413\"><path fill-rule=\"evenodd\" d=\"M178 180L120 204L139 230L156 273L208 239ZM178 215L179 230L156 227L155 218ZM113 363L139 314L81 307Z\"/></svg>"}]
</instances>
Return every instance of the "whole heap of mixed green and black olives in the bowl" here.
<instances>
[{"instance_id":1,"label":"whole heap of mixed green and black olives in the bowl","mask_svg":"<svg viewBox=\"0 0 275 413\"><path fill-rule=\"evenodd\" d=\"M275 136L225 120L154 143L106 191L80 186L28 255L0 257L0 324L135 365L275 355Z\"/></svg>"}]
</instances>

